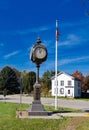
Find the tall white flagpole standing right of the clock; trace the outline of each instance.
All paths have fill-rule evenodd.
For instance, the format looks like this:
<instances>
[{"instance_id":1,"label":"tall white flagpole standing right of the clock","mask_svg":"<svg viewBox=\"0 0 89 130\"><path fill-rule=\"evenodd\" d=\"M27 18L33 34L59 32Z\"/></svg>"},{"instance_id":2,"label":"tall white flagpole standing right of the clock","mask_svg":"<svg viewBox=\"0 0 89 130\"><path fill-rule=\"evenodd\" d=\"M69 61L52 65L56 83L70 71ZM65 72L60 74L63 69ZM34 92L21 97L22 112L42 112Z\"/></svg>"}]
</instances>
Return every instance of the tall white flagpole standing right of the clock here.
<instances>
[{"instance_id":1,"label":"tall white flagpole standing right of the clock","mask_svg":"<svg viewBox=\"0 0 89 130\"><path fill-rule=\"evenodd\" d=\"M55 94L55 110L58 109L58 101L57 101L57 94L58 94L58 83L57 83L57 65L58 65L58 20L56 20L56 45L55 45L55 85L56 85L56 94Z\"/></svg>"}]
</instances>

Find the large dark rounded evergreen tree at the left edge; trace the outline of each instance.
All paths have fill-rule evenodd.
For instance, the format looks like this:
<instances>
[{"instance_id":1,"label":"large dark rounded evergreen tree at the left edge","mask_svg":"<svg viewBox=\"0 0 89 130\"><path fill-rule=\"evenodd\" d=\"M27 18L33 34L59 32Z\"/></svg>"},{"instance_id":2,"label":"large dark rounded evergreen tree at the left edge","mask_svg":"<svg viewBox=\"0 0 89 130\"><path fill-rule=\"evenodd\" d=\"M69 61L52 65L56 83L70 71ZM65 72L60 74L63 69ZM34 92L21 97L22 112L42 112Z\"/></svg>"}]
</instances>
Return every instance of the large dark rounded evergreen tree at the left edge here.
<instances>
[{"instance_id":1,"label":"large dark rounded evergreen tree at the left edge","mask_svg":"<svg viewBox=\"0 0 89 130\"><path fill-rule=\"evenodd\" d=\"M0 88L16 92L18 87L19 82L15 71L9 66L4 67L0 72Z\"/></svg>"}]
</instances>

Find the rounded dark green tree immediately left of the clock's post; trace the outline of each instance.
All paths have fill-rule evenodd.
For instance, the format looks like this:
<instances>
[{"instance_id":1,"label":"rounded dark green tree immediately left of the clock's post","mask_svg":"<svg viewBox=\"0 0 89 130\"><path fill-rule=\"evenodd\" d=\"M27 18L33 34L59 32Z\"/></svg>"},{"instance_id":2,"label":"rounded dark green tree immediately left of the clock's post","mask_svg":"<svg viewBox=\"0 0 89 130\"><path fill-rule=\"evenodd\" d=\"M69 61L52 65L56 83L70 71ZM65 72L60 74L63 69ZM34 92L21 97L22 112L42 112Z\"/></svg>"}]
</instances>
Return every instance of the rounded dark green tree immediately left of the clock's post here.
<instances>
[{"instance_id":1,"label":"rounded dark green tree immediately left of the clock's post","mask_svg":"<svg viewBox=\"0 0 89 130\"><path fill-rule=\"evenodd\" d=\"M36 82L36 74L35 72L31 71L28 73L25 73L23 76L23 91L25 93L31 93L33 91L33 85Z\"/></svg>"}]
</instances>

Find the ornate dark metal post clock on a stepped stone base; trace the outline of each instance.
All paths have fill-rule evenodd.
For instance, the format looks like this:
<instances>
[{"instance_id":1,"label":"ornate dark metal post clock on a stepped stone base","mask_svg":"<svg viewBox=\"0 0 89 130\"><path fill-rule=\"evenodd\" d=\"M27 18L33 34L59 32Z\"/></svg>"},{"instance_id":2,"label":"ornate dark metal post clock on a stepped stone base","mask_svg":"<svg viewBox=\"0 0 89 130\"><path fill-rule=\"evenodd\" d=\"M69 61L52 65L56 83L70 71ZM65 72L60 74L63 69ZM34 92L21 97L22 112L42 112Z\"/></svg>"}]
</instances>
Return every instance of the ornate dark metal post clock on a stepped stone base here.
<instances>
[{"instance_id":1,"label":"ornate dark metal post clock on a stepped stone base","mask_svg":"<svg viewBox=\"0 0 89 130\"><path fill-rule=\"evenodd\" d=\"M39 68L42 62L47 59L47 49L42 45L40 38L38 37L36 44L31 48L30 59L36 64L36 83L34 84L34 100L28 110L28 115L48 115L48 112L44 110L40 101L40 89L39 83Z\"/></svg>"}]
</instances>

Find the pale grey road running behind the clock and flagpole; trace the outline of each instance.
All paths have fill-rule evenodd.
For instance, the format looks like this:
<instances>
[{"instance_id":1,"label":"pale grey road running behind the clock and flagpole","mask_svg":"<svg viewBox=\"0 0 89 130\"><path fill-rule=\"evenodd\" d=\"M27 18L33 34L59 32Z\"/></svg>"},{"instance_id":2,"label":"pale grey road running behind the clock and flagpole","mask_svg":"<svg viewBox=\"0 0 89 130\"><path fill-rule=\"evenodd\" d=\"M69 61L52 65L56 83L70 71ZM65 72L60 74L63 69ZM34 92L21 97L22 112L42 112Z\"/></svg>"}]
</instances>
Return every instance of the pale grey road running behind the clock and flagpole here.
<instances>
[{"instance_id":1,"label":"pale grey road running behind the clock and flagpole","mask_svg":"<svg viewBox=\"0 0 89 130\"><path fill-rule=\"evenodd\" d=\"M7 95L6 102L15 102L15 103L28 103L31 104L33 97L26 95ZM0 95L0 101L4 101L3 95ZM44 105L55 106L55 99L53 98L41 98L41 102ZM74 108L89 112L89 101L85 100L73 100L73 99L58 99L58 106L63 108Z\"/></svg>"}]
</instances>

